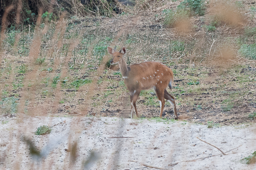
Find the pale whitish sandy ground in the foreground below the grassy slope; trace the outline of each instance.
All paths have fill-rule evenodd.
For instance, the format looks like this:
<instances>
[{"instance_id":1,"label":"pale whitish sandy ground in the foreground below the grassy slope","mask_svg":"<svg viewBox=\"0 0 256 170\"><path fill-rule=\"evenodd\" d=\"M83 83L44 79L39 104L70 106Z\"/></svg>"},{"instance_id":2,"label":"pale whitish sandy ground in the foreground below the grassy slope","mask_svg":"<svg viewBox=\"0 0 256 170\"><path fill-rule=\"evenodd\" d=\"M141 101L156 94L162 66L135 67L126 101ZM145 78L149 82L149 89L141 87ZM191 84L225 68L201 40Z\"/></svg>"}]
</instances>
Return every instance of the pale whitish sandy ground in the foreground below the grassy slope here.
<instances>
[{"instance_id":1,"label":"pale whitish sandy ground in the foreground below the grassy slope","mask_svg":"<svg viewBox=\"0 0 256 170\"><path fill-rule=\"evenodd\" d=\"M1 170L154 169L149 166L168 170L256 169L256 164L240 162L242 158L256 151L255 124L207 128L206 125L182 121L156 122L114 117L58 118L19 115L13 118L2 116L0 119ZM52 132L49 135L34 135L40 125L52 126ZM32 157L29 154L24 137L31 139L44 158ZM196 137L224 152L236 149L223 155ZM74 146L76 142L76 154L69 152L71 145ZM76 155L74 164L71 164L70 153ZM203 157L207 158L199 159ZM91 164L83 164L86 160Z\"/></svg>"}]
</instances>

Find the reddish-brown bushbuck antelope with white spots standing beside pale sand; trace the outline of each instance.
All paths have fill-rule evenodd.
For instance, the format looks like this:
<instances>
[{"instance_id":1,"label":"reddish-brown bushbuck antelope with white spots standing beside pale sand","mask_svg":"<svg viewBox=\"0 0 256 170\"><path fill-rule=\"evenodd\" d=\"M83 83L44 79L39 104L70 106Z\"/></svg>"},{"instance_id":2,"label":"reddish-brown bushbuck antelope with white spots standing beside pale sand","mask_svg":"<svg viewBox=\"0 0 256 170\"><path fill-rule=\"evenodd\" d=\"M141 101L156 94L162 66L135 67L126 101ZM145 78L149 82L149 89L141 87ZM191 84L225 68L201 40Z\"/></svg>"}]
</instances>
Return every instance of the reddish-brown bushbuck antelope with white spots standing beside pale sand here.
<instances>
[{"instance_id":1,"label":"reddish-brown bushbuck antelope with white spots standing beside pale sand","mask_svg":"<svg viewBox=\"0 0 256 170\"><path fill-rule=\"evenodd\" d=\"M126 53L126 48L123 47L120 51L116 51L116 48L107 47L107 51L110 55L113 55L110 64L119 64L121 74L124 78L124 83L130 92L130 100L132 105L131 118L133 119L133 111L135 109L136 116L139 117L136 101L139 98L141 90L147 90L153 88L156 91L156 95L159 99L161 111L159 117L162 118L162 112L165 106L165 99L172 104L175 119L178 119L175 99L171 96L166 87L169 86L172 89L173 72L164 64L154 61L147 61L139 64L132 64L127 66L123 56Z\"/></svg>"}]
</instances>

